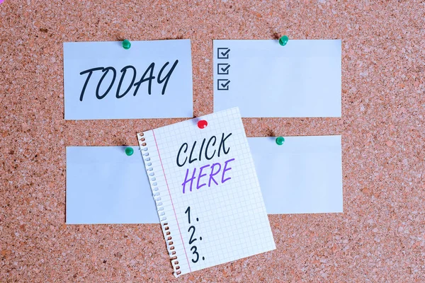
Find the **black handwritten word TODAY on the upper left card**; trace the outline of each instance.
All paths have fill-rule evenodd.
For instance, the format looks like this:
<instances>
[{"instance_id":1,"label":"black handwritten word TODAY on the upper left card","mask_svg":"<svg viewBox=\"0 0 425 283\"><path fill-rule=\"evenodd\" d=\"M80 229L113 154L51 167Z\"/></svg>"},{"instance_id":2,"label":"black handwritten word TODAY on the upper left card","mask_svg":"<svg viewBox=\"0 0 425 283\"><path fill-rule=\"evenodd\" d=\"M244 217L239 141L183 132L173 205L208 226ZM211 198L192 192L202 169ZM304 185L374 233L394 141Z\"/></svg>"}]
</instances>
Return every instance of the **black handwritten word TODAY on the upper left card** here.
<instances>
[{"instance_id":1,"label":"black handwritten word TODAY on the upper left card","mask_svg":"<svg viewBox=\"0 0 425 283\"><path fill-rule=\"evenodd\" d=\"M162 68L159 70L158 76L154 76L155 63L153 62L152 64L149 65L149 67L147 67L145 73L140 78L140 81L137 81L136 83L135 83L135 79L136 79L136 76L137 76L136 68L131 66L131 65L123 67L123 69L121 69L121 71L120 71L121 77L120 77L120 81L118 82L118 87L117 87L117 91L115 93L115 97L116 98L123 98L133 88L133 86L135 86L135 91L133 92L133 96L136 96L137 91L139 91L140 85L142 83L144 83L145 81L148 82L147 93L150 95L150 94L152 94L152 81L154 81L154 79L157 79L158 84L164 83L164 85L162 86L162 95L164 95L165 90L166 90L166 85L169 82L170 76L173 73L174 69L176 69L176 66L177 66L178 63L179 63L179 60L176 60L174 62L174 64L169 68L169 71L166 72L166 67L169 65L169 62L166 62L164 64L164 66L162 66ZM131 72L131 74L132 74L131 83L127 86L127 88L125 88L125 91L123 91L123 93L121 93L121 88L123 87L123 81L124 81L124 78L127 75L128 71L129 71L129 73ZM82 76L82 75L87 74L87 77L86 77L86 81L84 83L84 86L81 89L81 94L80 94L80 98L79 98L80 101L83 101L84 93L86 93L86 88L89 85L89 81L91 79L92 74L94 74L94 72L103 73L103 75L101 76L101 79L99 79L99 81L97 83L97 87L96 87L96 91L95 91L96 98L98 98L98 99L105 98L106 95L109 93L109 91L111 91L111 88L113 87L113 84L115 83L115 79L117 77L117 71L115 70L114 67L106 67L106 68L105 67L96 67L96 68L88 69L86 71L81 71L80 75ZM108 74L112 74L112 79L109 82L107 82L105 80L105 78L106 78L106 76L108 76ZM111 75L109 77L111 77ZM108 83L109 83L109 85L108 85ZM100 89L101 89L102 85L108 86L108 88L103 93L100 93ZM94 91L94 89L91 89L91 92L93 92L93 91Z\"/></svg>"}]
</instances>

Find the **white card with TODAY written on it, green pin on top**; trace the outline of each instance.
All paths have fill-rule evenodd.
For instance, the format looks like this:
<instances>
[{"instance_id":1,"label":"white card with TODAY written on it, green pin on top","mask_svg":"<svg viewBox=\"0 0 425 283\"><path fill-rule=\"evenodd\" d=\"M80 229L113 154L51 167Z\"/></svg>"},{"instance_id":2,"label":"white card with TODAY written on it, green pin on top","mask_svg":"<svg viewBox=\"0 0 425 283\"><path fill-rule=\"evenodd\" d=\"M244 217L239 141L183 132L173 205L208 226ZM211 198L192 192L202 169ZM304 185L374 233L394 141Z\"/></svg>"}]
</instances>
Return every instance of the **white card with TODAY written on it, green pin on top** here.
<instances>
[{"instance_id":1,"label":"white card with TODAY written on it, green pin on top","mask_svg":"<svg viewBox=\"0 0 425 283\"><path fill-rule=\"evenodd\" d=\"M192 97L190 40L64 42L65 120L193 117Z\"/></svg>"}]
</instances>

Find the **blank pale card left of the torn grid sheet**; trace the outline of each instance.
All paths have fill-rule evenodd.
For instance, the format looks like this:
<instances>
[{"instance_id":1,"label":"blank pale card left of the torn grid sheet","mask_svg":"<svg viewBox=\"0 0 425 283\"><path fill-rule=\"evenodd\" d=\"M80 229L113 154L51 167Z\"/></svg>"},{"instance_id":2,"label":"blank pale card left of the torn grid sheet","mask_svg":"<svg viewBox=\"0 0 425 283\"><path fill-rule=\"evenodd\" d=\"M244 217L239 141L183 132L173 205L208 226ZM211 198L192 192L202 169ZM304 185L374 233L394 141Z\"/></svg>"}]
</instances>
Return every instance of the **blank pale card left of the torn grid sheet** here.
<instances>
[{"instance_id":1,"label":"blank pale card left of the torn grid sheet","mask_svg":"<svg viewBox=\"0 0 425 283\"><path fill-rule=\"evenodd\" d=\"M67 224L159 223L138 146L67 146Z\"/></svg>"}]
</instances>

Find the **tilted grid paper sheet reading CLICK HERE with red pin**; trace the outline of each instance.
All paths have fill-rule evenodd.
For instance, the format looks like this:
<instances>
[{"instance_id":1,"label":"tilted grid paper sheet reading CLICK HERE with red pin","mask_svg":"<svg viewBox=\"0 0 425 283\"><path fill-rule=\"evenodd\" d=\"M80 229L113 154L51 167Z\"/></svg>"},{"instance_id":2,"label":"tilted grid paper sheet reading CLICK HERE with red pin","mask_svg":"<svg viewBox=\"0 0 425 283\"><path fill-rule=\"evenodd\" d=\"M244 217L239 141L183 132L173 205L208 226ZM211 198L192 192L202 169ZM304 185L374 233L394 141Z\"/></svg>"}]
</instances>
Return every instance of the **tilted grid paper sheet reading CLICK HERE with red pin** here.
<instances>
[{"instance_id":1,"label":"tilted grid paper sheet reading CLICK HERE with red pin","mask_svg":"<svg viewBox=\"0 0 425 283\"><path fill-rule=\"evenodd\" d=\"M174 275L276 248L238 108L137 137Z\"/></svg>"}]
</instances>

